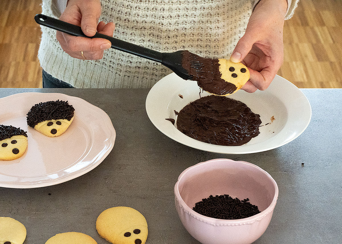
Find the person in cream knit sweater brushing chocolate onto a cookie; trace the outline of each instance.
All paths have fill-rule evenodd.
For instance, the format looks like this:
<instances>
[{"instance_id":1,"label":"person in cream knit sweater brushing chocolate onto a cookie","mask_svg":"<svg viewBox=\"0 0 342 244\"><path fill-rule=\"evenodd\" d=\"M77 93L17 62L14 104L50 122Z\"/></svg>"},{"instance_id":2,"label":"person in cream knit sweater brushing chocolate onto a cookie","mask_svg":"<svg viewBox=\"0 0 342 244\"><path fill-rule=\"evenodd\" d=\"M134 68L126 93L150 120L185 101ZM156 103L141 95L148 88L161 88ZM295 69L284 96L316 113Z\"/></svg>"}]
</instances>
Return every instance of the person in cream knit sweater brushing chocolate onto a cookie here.
<instances>
[{"instance_id":1,"label":"person in cream knit sweater brushing chocolate onto a cookie","mask_svg":"<svg viewBox=\"0 0 342 244\"><path fill-rule=\"evenodd\" d=\"M244 63L242 87L265 90L283 61L283 27L298 0L43 0L42 14L159 52L188 50ZM99 22L100 21L100 22ZM115 24L114 24L115 23ZM116 25L116 26L115 26ZM148 88L172 71L101 38L42 26L43 87Z\"/></svg>"}]
</instances>

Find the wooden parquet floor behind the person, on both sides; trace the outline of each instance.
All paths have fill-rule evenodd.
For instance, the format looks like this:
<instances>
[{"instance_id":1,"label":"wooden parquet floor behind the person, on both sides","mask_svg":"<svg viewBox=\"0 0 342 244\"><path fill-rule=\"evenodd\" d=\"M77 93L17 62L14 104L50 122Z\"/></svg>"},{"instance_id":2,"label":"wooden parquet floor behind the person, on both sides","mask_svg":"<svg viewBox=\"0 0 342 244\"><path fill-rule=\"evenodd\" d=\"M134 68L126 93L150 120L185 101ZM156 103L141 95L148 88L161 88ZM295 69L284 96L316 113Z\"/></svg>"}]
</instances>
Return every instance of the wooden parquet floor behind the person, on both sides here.
<instances>
[{"instance_id":1,"label":"wooden parquet floor behind the person, on both sides","mask_svg":"<svg viewBox=\"0 0 342 244\"><path fill-rule=\"evenodd\" d=\"M0 87L42 87L37 58L41 0L0 4ZM342 1L301 0L284 26L278 74L300 88L342 88Z\"/></svg>"}]
</instances>

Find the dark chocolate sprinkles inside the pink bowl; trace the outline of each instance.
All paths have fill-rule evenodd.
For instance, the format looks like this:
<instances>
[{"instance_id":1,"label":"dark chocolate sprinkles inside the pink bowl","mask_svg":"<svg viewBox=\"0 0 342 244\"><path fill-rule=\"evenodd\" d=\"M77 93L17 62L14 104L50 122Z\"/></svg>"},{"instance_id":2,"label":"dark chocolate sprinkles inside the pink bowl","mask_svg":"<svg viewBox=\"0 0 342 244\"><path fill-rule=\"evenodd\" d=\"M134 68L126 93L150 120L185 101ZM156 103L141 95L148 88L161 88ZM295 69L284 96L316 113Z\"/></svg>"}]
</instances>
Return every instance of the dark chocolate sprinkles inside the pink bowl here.
<instances>
[{"instance_id":1,"label":"dark chocolate sprinkles inside the pink bowl","mask_svg":"<svg viewBox=\"0 0 342 244\"><path fill-rule=\"evenodd\" d=\"M242 219L261 213L258 206L252 205L248 201L248 198L240 201L227 194L210 195L209 198L196 203L193 210L215 219Z\"/></svg>"}]
</instances>

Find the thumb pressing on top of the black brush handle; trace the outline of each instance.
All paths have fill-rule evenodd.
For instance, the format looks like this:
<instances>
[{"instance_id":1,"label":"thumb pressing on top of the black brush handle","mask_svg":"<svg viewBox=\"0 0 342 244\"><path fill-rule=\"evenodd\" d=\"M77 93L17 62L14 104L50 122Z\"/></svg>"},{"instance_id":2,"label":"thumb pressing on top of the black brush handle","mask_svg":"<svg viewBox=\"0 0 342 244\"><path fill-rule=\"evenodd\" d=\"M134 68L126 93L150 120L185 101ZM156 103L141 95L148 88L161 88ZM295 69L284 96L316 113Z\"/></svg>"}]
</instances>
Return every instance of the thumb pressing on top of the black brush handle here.
<instances>
[{"instance_id":1,"label":"thumb pressing on top of the black brush handle","mask_svg":"<svg viewBox=\"0 0 342 244\"><path fill-rule=\"evenodd\" d=\"M84 34L92 37L96 33L97 20L101 16L101 3L98 0L90 0L79 5L82 15L81 29Z\"/></svg>"}]
</instances>

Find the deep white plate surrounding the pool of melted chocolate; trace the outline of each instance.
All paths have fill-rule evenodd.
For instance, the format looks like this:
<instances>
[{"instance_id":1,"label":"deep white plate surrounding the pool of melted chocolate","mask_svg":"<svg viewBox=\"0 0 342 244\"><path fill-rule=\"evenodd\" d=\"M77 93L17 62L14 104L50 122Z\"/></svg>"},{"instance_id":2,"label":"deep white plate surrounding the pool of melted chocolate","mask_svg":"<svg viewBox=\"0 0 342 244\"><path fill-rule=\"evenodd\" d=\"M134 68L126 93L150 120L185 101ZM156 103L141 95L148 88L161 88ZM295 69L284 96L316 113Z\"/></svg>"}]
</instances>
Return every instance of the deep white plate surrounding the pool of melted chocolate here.
<instances>
[{"instance_id":1,"label":"deep white plate surrounding the pool of melted chocolate","mask_svg":"<svg viewBox=\"0 0 342 244\"><path fill-rule=\"evenodd\" d=\"M171 73L149 91L146 98L147 115L159 131L179 143L204 151L229 154L262 152L285 145L302 134L311 120L311 106L305 95L288 80L276 76L265 91L247 93L239 90L228 96L242 101L252 112L260 114L261 125L264 125L259 127L260 134L242 146L208 144L184 135L165 120L176 120L174 110L179 112L190 102L199 99L199 93L196 81L185 81ZM201 97L208 95L211 94L201 92ZM275 120L271 123L272 116Z\"/></svg>"}]
</instances>

